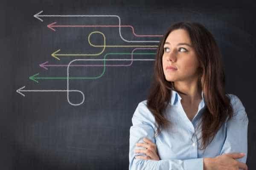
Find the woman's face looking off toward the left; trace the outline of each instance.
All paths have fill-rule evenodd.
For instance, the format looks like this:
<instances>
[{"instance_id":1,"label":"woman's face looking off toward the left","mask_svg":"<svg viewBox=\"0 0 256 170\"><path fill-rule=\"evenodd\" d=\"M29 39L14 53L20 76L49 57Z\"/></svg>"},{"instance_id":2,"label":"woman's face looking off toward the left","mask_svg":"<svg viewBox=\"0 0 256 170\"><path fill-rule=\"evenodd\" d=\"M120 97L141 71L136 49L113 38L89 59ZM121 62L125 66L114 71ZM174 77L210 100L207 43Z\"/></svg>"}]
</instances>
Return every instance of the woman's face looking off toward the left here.
<instances>
[{"instance_id":1,"label":"woman's face looking off toward the left","mask_svg":"<svg viewBox=\"0 0 256 170\"><path fill-rule=\"evenodd\" d=\"M168 35L162 62L165 78L169 82L191 81L198 78L199 62L186 30L177 29ZM168 66L177 69L169 69Z\"/></svg>"}]
</instances>

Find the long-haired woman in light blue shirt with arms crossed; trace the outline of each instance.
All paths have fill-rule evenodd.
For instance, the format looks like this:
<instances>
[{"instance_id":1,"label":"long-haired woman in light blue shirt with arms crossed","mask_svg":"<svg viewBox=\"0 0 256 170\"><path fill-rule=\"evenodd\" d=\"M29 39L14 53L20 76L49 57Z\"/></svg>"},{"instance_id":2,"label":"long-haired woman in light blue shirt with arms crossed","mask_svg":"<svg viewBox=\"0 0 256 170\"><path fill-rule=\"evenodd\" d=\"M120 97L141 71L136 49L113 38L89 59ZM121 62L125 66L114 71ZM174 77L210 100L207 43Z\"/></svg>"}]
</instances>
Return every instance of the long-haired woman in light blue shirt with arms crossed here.
<instances>
[{"instance_id":1,"label":"long-haired woman in light blue shirt with arms crossed","mask_svg":"<svg viewBox=\"0 0 256 170\"><path fill-rule=\"evenodd\" d=\"M132 117L129 170L247 170L247 114L224 86L212 34L199 23L173 24L157 49L148 100Z\"/></svg>"}]
</instances>

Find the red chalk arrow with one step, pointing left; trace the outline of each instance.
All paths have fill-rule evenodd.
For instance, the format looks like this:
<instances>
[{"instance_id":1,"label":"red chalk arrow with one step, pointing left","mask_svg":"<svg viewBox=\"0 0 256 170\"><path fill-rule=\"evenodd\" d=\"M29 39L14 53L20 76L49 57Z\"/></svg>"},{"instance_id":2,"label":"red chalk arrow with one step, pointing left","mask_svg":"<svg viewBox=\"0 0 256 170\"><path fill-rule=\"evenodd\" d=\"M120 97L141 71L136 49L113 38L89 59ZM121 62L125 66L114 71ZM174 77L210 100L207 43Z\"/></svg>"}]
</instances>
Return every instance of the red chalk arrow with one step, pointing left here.
<instances>
[{"instance_id":1,"label":"red chalk arrow with one step, pointing left","mask_svg":"<svg viewBox=\"0 0 256 170\"><path fill-rule=\"evenodd\" d=\"M163 35L137 35L134 32L134 27L127 25L127 26L113 26L113 25L54 25L57 22L48 24L47 27L50 28L53 31L56 31L54 28L55 27L130 27L132 29L132 33L134 34L134 36L136 37L163 37Z\"/></svg>"}]
</instances>

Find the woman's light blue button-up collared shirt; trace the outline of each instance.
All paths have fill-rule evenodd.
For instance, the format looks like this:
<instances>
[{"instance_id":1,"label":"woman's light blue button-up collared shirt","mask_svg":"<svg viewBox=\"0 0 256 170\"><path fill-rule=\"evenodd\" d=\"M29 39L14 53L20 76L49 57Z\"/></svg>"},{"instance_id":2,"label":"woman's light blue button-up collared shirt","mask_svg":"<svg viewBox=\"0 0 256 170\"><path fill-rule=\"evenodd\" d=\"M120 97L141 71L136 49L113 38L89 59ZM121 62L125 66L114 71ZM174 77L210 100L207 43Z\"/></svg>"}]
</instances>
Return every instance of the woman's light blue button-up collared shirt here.
<instances>
[{"instance_id":1,"label":"woman's light blue button-up collared shirt","mask_svg":"<svg viewBox=\"0 0 256 170\"><path fill-rule=\"evenodd\" d=\"M248 117L240 99L233 94L227 94L231 98L234 110L233 118L227 121L218 130L212 142L205 150L200 150L201 126L199 120L203 113L204 95L198 105L198 112L192 119L186 116L180 103L181 97L177 91L172 90L172 98L166 108L167 119L173 126L163 130L155 136L155 119L151 111L146 107L147 100L140 102L132 117L129 141L129 170L203 170L203 158L215 157L224 153L246 153L238 161L246 163L247 159L247 127ZM193 136L193 133L196 135ZM143 143L143 137L148 138L157 145L159 161L136 159L134 156L144 153L134 153L136 143ZM198 140L200 139L200 140Z\"/></svg>"}]
</instances>

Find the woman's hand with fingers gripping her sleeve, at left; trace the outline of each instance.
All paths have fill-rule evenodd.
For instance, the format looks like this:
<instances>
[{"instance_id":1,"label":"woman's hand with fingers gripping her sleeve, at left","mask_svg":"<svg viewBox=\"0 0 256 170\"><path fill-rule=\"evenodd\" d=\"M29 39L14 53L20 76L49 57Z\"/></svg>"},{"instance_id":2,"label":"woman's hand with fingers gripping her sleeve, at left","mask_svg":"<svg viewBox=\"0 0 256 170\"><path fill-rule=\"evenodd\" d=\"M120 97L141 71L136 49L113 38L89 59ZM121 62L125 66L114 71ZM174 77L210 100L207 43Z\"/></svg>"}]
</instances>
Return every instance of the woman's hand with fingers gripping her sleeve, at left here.
<instances>
[{"instance_id":1,"label":"woman's hand with fingers gripping her sleeve, at left","mask_svg":"<svg viewBox=\"0 0 256 170\"><path fill-rule=\"evenodd\" d=\"M151 142L147 138L143 138L146 143L137 143L136 146L145 147L146 149L135 149L135 153L145 153L147 156L135 156L136 159L150 159L159 161L159 156L157 155L157 145Z\"/></svg>"}]
</instances>

